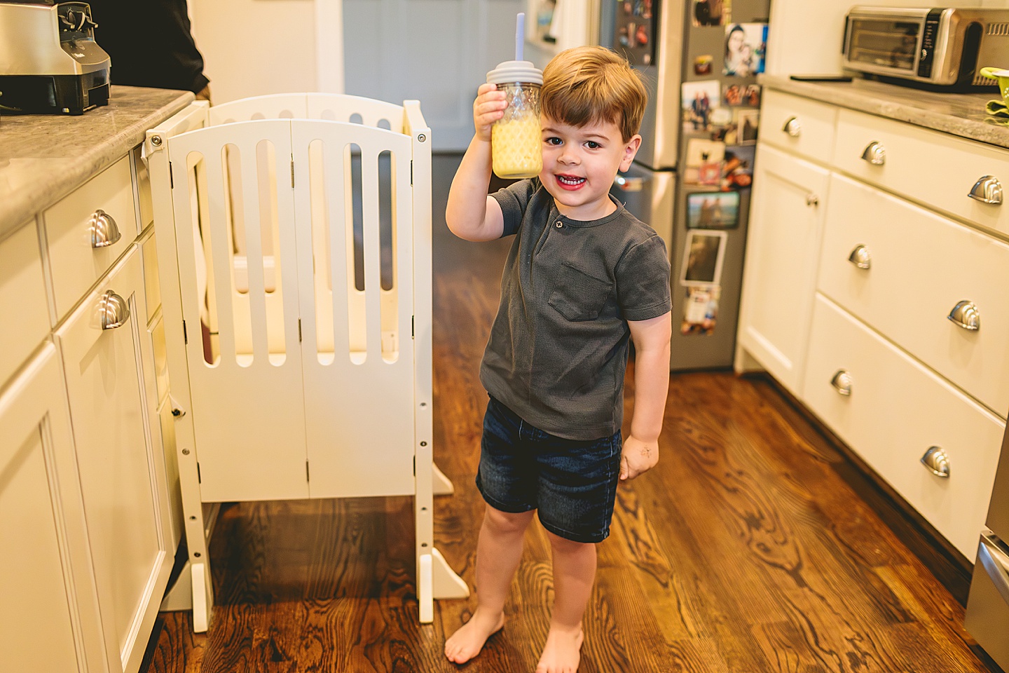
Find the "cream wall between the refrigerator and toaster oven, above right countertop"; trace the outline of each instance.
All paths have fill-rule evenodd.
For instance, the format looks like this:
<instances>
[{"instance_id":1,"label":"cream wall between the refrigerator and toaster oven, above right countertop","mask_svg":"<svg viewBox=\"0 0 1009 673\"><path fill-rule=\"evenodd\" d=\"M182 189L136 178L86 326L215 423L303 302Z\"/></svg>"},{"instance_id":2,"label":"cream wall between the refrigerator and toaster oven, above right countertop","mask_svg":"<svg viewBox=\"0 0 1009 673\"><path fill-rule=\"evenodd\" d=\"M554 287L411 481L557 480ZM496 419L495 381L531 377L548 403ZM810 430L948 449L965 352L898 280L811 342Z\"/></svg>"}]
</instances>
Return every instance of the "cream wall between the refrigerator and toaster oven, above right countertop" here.
<instances>
[{"instance_id":1,"label":"cream wall between the refrigerator and toaster oven, above right countertop","mask_svg":"<svg viewBox=\"0 0 1009 673\"><path fill-rule=\"evenodd\" d=\"M922 0L771 0L767 72L772 75L840 73L845 14L853 5L933 6ZM1009 0L946 0L941 6L1009 8Z\"/></svg>"}]
</instances>

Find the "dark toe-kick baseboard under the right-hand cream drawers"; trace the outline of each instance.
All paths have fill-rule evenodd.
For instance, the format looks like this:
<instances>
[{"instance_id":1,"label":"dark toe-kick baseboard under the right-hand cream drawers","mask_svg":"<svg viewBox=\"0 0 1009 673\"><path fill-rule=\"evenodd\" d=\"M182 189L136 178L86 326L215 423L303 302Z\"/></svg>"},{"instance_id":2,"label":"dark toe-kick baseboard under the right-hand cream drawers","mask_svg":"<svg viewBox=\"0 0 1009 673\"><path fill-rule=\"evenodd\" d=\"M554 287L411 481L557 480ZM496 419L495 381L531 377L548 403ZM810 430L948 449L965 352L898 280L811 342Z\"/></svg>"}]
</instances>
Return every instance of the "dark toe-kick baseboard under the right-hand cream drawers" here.
<instances>
[{"instance_id":1,"label":"dark toe-kick baseboard under the right-hand cream drawers","mask_svg":"<svg viewBox=\"0 0 1009 673\"><path fill-rule=\"evenodd\" d=\"M974 564L774 377L765 372L744 375L750 379L766 381L782 401L780 411L783 408L790 410L815 431L819 440L826 441L836 449L844 458L830 463L837 475L869 504L897 539L918 557L957 602L967 606ZM801 433L801 424L796 430Z\"/></svg>"}]
</instances>

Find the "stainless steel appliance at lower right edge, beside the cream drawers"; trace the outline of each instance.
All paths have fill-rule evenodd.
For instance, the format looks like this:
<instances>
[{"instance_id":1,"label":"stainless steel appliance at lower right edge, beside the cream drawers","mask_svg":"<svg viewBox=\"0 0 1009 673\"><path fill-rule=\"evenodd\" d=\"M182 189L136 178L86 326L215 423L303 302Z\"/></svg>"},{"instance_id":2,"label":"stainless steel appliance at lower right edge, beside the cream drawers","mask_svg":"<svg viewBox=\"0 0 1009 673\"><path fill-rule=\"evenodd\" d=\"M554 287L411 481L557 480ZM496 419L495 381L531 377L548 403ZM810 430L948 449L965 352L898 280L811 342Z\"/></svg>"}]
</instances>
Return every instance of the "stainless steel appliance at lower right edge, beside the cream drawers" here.
<instances>
[{"instance_id":1,"label":"stainless steel appliance at lower right edge, beside the cream drawers","mask_svg":"<svg viewBox=\"0 0 1009 673\"><path fill-rule=\"evenodd\" d=\"M985 524L988 528L978 544L964 626L1009 671L1009 430L1002 442Z\"/></svg>"}]
</instances>

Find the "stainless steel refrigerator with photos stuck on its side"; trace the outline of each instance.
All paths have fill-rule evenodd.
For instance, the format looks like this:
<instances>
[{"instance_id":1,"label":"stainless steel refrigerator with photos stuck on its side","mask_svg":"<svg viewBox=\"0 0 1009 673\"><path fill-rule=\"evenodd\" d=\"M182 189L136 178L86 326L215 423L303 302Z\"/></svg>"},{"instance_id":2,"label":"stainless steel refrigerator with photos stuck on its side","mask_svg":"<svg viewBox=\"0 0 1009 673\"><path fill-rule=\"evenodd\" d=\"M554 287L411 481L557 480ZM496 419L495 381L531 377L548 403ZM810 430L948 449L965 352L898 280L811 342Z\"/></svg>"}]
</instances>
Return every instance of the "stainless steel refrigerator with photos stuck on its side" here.
<instances>
[{"instance_id":1,"label":"stainless steel refrigerator with photos stuck on its side","mask_svg":"<svg viewBox=\"0 0 1009 673\"><path fill-rule=\"evenodd\" d=\"M603 0L600 12L600 44L649 86L642 147L612 193L670 252L670 369L732 366L770 0Z\"/></svg>"}]
</instances>

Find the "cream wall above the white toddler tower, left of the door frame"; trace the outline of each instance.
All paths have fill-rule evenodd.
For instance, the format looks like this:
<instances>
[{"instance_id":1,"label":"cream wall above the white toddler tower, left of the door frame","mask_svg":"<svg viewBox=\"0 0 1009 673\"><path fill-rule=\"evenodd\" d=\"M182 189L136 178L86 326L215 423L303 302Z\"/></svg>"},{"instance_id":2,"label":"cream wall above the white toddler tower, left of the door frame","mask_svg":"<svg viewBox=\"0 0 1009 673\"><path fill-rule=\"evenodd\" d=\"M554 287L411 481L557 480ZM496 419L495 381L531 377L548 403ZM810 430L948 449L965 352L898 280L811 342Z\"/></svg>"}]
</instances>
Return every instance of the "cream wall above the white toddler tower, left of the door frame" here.
<instances>
[{"instance_id":1,"label":"cream wall above the white toddler tower, left of the door frame","mask_svg":"<svg viewBox=\"0 0 1009 673\"><path fill-rule=\"evenodd\" d=\"M314 0L190 0L214 103L316 91L315 12Z\"/></svg>"}]
</instances>

